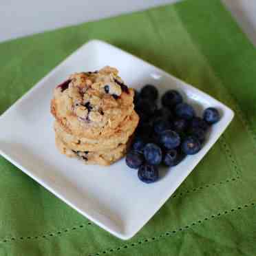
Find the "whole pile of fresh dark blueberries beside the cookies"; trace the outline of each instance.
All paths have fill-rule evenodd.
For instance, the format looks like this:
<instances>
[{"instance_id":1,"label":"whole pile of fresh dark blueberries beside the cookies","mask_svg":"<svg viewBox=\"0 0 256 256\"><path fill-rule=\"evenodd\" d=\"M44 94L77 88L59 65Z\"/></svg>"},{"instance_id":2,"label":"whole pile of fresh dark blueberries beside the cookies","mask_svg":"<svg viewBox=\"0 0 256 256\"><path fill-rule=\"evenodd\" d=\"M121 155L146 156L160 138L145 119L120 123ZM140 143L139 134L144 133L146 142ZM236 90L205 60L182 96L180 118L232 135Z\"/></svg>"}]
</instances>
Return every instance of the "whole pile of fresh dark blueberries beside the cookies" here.
<instances>
[{"instance_id":1,"label":"whole pile of fresh dark blueberries beside the cookies","mask_svg":"<svg viewBox=\"0 0 256 256\"><path fill-rule=\"evenodd\" d=\"M205 109L202 118L196 116L193 107L174 89L164 93L162 107L157 107L157 100L158 89L153 85L135 92L140 122L126 163L138 169L138 178L146 183L158 180L159 164L173 167L185 156L198 153L209 127L220 120L219 111L213 107Z\"/></svg>"}]
</instances>

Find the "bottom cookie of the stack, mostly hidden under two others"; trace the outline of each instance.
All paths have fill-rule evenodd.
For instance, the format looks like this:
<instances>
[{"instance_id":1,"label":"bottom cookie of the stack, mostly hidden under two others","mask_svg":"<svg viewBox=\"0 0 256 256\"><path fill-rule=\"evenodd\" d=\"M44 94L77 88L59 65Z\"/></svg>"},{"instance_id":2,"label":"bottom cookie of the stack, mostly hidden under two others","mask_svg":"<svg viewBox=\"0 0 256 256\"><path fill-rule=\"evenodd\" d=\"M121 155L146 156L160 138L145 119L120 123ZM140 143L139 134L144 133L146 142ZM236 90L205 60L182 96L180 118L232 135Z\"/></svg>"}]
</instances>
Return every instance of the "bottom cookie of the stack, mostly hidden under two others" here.
<instances>
[{"instance_id":1,"label":"bottom cookie of the stack, mostly hidden under two others","mask_svg":"<svg viewBox=\"0 0 256 256\"><path fill-rule=\"evenodd\" d=\"M127 152L129 148L129 144L122 144L116 147L116 149L111 149L108 151L98 151L98 152L90 152L90 151L74 151L67 147L65 142L63 142L58 136L55 138L56 141L56 147L58 148L58 151L65 154L65 156L68 156L70 158L78 158L80 160L83 160L85 164L100 164L100 165L109 165L123 156L125 156L125 153Z\"/></svg>"}]
</instances>

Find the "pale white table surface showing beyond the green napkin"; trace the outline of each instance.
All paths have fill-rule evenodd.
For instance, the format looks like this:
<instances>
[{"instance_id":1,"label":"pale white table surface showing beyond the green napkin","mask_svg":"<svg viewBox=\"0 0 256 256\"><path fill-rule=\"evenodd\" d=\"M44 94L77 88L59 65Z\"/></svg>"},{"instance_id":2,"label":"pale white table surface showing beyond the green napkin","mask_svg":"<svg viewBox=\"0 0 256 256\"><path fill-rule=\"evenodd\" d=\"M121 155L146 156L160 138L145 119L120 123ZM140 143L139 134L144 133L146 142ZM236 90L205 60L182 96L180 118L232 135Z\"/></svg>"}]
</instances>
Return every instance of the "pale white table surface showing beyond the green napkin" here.
<instances>
[{"instance_id":1,"label":"pale white table surface showing beyond the green napkin","mask_svg":"<svg viewBox=\"0 0 256 256\"><path fill-rule=\"evenodd\" d=\"M179 0L0 0L0 41L175 1ZM256 45L256 0L222 1Z\"/></svg>"}]
</instances>

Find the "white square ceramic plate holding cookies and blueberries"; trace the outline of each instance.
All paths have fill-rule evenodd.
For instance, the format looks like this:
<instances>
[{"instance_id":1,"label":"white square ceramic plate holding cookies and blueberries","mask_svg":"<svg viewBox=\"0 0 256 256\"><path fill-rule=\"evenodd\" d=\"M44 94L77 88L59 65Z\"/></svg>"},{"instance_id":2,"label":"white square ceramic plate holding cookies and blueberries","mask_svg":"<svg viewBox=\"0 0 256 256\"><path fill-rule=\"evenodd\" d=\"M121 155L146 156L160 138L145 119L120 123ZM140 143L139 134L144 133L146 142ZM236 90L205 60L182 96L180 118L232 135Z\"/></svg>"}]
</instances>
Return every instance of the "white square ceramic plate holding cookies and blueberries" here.
<instances>
[{"instance_id":1,"label":"white square ceramic plate holding cookies and blueberries","mask_svg":"<svg viewBox=\"0 0 256 256\"><path fill-rule=\"evenodd\" d=\"M123 159L110 167L86 166L58 153L50 115L54 87L73 72L98 70L105 65L117 67L130 87L151 83L159 87L160 93L178 89L199 113L210 106L220 109L222 118L213 126L202 150L153 184L140 182L137 172L129 169ZM129 239L213 147L233 116L231 109L191 85L136 56L94 40L66 58L0 117L0 153L89 220L121 239Z\"/></svg>"}]
</instances>

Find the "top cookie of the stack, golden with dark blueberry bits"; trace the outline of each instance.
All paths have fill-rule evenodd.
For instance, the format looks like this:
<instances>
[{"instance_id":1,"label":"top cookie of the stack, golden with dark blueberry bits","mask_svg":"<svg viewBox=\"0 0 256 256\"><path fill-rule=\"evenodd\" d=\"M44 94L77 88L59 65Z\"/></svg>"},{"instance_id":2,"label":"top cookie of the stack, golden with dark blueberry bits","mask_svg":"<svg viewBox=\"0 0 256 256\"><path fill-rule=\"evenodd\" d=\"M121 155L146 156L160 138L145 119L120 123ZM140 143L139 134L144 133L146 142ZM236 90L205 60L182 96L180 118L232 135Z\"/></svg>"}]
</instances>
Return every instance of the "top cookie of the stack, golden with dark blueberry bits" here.
<instances>
[{"instance_id":1,"label":"top cookie of the stack, golden with dark blueberry bits","mask_svg":"<svg viewBox=\"0 0 256 256\"><path fill-rule=\"evenodd\" d=\"M104 67L98 72L81 72L54 89L51 111L63 129L75 136L110 136L134 109L134 90Z\"/></svg>"}]
</instances>

